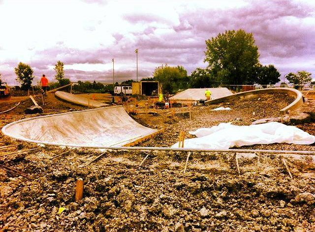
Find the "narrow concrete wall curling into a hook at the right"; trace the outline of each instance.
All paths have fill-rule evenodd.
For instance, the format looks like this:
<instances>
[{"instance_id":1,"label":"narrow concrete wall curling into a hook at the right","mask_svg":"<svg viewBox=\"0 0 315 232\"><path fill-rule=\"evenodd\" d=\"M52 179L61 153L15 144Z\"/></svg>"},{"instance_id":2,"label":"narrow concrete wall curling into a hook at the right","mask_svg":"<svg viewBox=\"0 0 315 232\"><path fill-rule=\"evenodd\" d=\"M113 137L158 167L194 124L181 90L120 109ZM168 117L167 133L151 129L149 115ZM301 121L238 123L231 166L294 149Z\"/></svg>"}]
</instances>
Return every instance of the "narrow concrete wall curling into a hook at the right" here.
<instances>
[{"instance_id":1,"label":"narrow concrete wall curling into a hook at the right","mask_svg":"<svg viewBox=\"0 0 315 232\"><path fill-rule=\"evenodd\" d=\"M281 115L285 115L288 111L294 111L298 108L300 108L304 102L302 93L299 90L296 90L294 88L263 88L263 89L256 89L256 90L251 90L251 91L246 91L246 92L239 92L235 93L231 96L226 96L226 97L221 97L218 99L206 101L206 105L211 105L211 104L218 104L221 102L227 102L235 99L243 99L243 98L250 98L254 95L257 94L264 94L264 93L286 93L291 97L294 97L295 100L291 102L288 106L284 107L283 109L280 110Z\"/></svg>"}]
</instances>

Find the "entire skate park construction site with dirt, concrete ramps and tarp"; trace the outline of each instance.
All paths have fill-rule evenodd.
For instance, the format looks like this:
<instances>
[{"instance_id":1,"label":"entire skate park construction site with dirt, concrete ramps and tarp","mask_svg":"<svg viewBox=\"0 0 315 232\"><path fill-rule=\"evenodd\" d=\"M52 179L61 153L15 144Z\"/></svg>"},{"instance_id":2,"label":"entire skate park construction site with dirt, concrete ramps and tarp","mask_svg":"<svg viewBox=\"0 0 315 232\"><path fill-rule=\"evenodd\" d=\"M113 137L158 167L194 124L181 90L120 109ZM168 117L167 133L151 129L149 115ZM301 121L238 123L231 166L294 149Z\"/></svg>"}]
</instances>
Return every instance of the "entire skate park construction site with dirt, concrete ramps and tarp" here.
<instances>
[{"instance_id":1,"label":"entire skate park construction site with dirt, concrete ramps and tarp","mask_svg":"<svg viewBox=\"0 0 315 232\"><path fill-rule=\"evenodd\" d=\"M315 231L310 95L204 90L0 102L2 231Z\"/></svg>"}]
</instances>

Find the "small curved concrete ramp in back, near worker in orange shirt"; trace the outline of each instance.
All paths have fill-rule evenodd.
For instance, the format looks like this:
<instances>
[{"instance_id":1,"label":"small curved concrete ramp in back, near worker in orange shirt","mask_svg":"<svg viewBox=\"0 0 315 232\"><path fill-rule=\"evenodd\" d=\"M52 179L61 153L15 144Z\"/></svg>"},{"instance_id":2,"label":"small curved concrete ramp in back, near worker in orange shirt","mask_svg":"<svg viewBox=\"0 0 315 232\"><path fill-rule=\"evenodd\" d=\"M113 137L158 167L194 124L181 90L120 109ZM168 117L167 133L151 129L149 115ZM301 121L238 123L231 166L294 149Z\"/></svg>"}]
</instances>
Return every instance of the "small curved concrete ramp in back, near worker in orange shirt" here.
<instances>
[{"instance_id":1,"label":"small curved concrete ramp in back, near worker in orange shirt","mask_svg":"<svg viewBox=\"0 0 315 232\"><path fill-rule=\"evenodd\" d=\"M104 106L109 106L106 103L98 102L98 101L92 101L88 98L81 97L72 93L63 92L63 91L57 91L55 92L55 95L59 97L60 99L63 99L64 101L68 101L77 105L81 106L88 106L93 108L101 108Z\"/></svg>"}]
</instances>

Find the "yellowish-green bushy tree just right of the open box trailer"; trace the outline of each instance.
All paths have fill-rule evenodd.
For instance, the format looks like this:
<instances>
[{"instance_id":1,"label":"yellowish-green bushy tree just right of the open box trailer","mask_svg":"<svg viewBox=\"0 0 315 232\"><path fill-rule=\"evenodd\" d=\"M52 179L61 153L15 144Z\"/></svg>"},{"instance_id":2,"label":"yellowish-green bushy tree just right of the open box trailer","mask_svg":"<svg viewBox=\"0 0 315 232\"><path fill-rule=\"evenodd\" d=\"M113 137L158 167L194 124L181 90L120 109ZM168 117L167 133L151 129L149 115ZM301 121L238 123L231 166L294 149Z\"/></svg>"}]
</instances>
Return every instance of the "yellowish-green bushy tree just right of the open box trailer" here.
<instances>
[{"instance_id":1,"label":"yellowish-green bushy tree just right of the open box trailer","mask_svg":"<svg viewBox=\"0 0 315 232\"><path fill-rule=\"evenodd\" d=\"M158 66L153 76L154 79L161 84L163 93L174 93L183 86L183 83L188 82L187 76L185 76L183 70L180 71L178 67L170 67L167 64ZM187 85L187 83L185 85Z\"/></svg>"}]
</instances>

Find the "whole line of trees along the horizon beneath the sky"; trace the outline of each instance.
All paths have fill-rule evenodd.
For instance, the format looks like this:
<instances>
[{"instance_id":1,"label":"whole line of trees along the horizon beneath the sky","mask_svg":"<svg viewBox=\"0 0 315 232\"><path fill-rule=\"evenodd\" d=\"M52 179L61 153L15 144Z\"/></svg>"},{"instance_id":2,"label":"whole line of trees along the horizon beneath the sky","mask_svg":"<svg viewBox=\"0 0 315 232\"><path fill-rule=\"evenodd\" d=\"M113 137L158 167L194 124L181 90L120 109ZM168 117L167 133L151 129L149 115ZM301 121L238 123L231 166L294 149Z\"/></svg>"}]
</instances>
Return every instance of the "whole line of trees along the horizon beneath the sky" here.
<instances>
[{"instance_id":1,"label":"whole line of trees along the horizon beneath the sky","mask_svg":"<svg viewBox=\"0 0 315 232\"><path fill-rule=\"evenodd\" d=\"M252 33L247 33L243 29L227 30L206 40L205 43L204 62L208 62L206 68L196 68L188 76L183 66L171 67L165 64L156 67L153 78L143 80L159 81L162 84L162 91L169 93L188 87L218 87L222 84L274 85L280 82L281 75L274 65L260 64L258 47L255 45ZM63 62L57 61L54 70L56 71L55 78L58 81L58 83L53 83L54 87L70 83L69 79L64 78ZM34 78L30 65L20 62L15 68L15 73L17 80L21 83L21 89L29 89ZM311 73L306 71L289 73L286 79L295 85L312 81ZM131 85L132 82L134 81L127 80L122 84ZM81 82L77 86L83 90L91 88L90 85L92 84ZM97 88L95 83L93 85L93 88Z\"/></svg>"}]
</instances>

